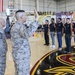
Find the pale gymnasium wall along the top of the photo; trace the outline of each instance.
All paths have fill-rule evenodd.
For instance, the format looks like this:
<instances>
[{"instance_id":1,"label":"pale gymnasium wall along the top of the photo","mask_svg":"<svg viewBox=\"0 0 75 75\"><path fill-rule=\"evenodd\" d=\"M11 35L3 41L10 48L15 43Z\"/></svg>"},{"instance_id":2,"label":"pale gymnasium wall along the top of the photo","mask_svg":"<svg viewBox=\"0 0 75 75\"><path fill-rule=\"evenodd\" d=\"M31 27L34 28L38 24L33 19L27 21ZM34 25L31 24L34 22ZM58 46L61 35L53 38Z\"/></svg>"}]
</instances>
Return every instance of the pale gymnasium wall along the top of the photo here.
<instances>
[{"instance_id":1,"label":"pale gymnasium wall along the top of the photo","mask_svg":"<svg viewBox=\"0 0 75 75\"><path fill-rule=\"evenodd\" d=\"M6 8L8 8L8 1L9 0L4 0L4 12ZM38 3L38 11L41 12L75 11L75 0L39 0ZM22 0L22 9L25 11L33 11L35 7L36 0ZM14 0L14 9L21 9L21 0Z\"/></svg>"}]
</instances>

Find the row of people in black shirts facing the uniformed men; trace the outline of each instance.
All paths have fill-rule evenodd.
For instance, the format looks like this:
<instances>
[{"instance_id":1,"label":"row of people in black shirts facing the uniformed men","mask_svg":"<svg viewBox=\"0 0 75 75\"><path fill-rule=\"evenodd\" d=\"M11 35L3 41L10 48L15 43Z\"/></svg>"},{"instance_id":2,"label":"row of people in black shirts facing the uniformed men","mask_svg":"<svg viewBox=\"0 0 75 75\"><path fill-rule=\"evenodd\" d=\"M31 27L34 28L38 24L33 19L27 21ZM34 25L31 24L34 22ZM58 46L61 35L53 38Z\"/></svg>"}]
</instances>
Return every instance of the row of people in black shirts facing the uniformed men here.
<instances>
[{"instance_id":1,"label":"row of people in black shirts facing the uniformed men","mask_svg":"<svg viewBox=\"0 0 75 75\"><path fill-rule=\"evenodd\" d=\"M51 18L51 23L49 24L49 20L45 21L44 27L44 39L45 44L49 46L49 32L52 39L51 48L55 48L55 34L57 33L57 41L58 41L58 50L62 50L62 36L65 34L65 44L67 53L71 52L71 38L72 38L72 29L75 34L75 23L70 23L70 18L66 18L66 23L62 23L62 19L58 18L57 23L55 23L55 19Z\"/></svg>"}]
</instances>

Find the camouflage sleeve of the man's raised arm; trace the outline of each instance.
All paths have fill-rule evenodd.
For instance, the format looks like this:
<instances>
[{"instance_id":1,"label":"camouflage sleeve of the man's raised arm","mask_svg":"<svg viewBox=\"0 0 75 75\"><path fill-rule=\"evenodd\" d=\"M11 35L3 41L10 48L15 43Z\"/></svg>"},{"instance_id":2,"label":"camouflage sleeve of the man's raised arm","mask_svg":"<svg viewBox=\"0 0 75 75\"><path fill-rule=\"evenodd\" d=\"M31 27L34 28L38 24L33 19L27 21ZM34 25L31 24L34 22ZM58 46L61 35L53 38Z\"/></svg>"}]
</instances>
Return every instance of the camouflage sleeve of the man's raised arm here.
<instances>
[{"instance_id":1,"label":"camouflage sleeve of the man's raised arm","mask_svg":"<svg viewBox=\"0 0 75 75\"><path fill-rule=\"evenodd\" d=\"M33 36L34 32L37 30L39 25L40 25L39 22L35 21L35 22L31 23L28 28L26 28L26 31L27 31L27 34L29 37Z\"/></svg>"}]
</instances>

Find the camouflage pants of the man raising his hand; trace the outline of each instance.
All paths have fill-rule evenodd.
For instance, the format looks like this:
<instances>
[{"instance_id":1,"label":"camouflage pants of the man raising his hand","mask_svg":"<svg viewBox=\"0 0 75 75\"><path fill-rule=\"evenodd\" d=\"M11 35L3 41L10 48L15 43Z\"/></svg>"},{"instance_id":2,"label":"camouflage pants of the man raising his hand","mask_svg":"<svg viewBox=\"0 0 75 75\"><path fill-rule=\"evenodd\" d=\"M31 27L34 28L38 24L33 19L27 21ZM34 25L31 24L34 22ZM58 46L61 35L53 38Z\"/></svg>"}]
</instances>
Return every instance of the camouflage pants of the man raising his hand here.
<instances>
[{"instance_id":1,"label":"camouflage pants of the man raising his hand","mask_svg":"<svg viewBox=\"0 0 75 75\"><path fill-rule=\"evenodd\" d=\"M30 52L13 52L15 75L30 75Z\"/></svg>"}]
</instances>

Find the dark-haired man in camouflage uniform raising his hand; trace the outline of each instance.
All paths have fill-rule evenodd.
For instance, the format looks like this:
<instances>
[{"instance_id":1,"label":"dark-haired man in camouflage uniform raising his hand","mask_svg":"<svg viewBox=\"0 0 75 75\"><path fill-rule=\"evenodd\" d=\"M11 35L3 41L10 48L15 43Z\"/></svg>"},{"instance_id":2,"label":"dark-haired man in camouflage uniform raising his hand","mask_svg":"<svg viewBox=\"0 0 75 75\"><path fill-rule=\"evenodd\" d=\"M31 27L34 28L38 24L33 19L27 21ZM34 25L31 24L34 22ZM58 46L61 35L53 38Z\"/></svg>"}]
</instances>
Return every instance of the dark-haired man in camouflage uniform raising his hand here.
<instances>
[{"instance_id":1,"label":"dark-haired man in camouflage uniform raising his hand","mask_svg":"<svg viewBox=\"0 0 75 75\"><path fill-rule=\"evenodd\" d=\"M24 10L16 12L17 22L11 28L12 54L15 63L15 75L30 75L30 46L28 37L37 30L38 14L34 10L35 21L28 27Z\"/></svg>"}]
</instances>

